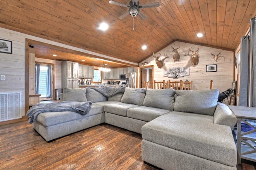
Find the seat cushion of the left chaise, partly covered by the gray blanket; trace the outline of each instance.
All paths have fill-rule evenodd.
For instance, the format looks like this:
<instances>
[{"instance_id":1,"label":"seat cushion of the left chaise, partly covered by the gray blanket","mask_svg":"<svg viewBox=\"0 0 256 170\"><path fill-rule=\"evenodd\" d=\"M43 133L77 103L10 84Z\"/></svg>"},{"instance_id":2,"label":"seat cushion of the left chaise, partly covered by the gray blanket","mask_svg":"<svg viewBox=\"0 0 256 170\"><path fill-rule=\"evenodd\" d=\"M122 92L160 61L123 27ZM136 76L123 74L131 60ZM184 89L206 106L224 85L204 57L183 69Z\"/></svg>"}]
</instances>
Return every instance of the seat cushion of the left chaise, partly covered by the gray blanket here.
<instances>
[{"instance_id":1,"label":"seat cushion of the left chaise, partly covered by the gray blanket","mask_svg":"<svg viewBox=\"0 0 256 170\"><path fill-rule=\"evenodd\" d=\"M44 126L57 125L59 123L69 122L76 119L83 119L84 117L96 115L104 112L102 106L91 106L90 111L86 115L80 115L73 111L59 111L59 112L45 112L40 113L36 121L42 123Z\"/></svg>"}]
</instances>

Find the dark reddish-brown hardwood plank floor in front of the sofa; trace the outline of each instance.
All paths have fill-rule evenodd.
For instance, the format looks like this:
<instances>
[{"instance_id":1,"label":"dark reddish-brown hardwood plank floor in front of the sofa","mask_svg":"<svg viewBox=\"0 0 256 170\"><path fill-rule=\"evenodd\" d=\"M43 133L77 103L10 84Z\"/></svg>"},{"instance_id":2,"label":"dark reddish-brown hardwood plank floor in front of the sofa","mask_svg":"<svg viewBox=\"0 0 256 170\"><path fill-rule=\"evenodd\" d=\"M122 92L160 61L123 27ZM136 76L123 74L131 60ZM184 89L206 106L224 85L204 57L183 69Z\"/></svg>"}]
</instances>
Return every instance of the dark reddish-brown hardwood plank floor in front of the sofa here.
<instances>
[{"instance_id":1,"label":"dark reddish-brown hardwood plank floor in front of the sofa","mask_svg":"<svg viewBox=\"0 0 256 170\"><path fill-rule=\"evenodd\" d=\"M101 124L46 143L27 121L1 125L0 169L157 170L142 161L141 140L138 133ZM254 170L243 165L238 170Z\"/></svg>"}]
</instances>

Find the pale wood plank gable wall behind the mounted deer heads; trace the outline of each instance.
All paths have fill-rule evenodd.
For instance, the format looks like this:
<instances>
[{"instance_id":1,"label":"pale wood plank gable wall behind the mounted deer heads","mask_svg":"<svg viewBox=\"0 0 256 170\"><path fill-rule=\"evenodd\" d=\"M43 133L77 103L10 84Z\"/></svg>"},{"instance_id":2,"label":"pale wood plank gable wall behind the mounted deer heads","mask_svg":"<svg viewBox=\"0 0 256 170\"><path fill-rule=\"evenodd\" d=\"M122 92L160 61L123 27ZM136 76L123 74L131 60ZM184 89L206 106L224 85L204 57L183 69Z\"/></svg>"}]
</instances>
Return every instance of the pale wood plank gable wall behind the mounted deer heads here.
<instances>
[{"instance_id":1,"label":"pale wood plank gable wall behind the mounted deer heads","mask_svg":"<svg viewBox=\"0 0 256 170\"><path fill-rule=\"evenodd\" d=\"M233 55L234 52L226 51L223 49L216 49L206 46L199 47L199 63L196 66L191 65L191 57L188 56L188 49L194 47L194 44L174 42L173 44L180 44L180 61L174 62L173 55L170 53L172 49L171 45L162 49L160 60L164 58L164 53L168 55L168 58L164 60L163 68L158 68L153 57L147 59L149 64L154 65L154 80L177 80L163 76L164 69L184 66L190 68L190 76L184 76L178 78L178 80L185 81L186 79L193 80L193 90L206 90L209 89L210 80L214 80L213 88L218 88L220 92L230 88L233 81ZM169 52L168 52L169 51ZM225 57L220 57L218 62L214 61L211 53L221 54ZM217 72L206 72L206 65L217 64Z\"/></svg>"}]
</instances>

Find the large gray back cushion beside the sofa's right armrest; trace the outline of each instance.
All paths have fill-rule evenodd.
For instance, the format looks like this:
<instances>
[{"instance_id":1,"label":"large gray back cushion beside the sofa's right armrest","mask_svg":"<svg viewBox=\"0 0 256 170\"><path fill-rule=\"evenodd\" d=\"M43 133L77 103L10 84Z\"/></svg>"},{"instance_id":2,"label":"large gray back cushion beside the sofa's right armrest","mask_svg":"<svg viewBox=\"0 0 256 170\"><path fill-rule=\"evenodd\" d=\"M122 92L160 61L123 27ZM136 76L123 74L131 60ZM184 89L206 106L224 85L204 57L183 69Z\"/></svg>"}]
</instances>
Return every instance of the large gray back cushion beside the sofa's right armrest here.
<instances>
[{"instance_id":1,"label":"large gray back cushion beside the sofa's right armrest","mask_svg":"<svg viewBox=\"0 0 256 170\"><path fill-rule=\"evenodd\" d=\"M174 111L213 115L219 90L177 90L176 95Z\"/></svg>"}]
</instances>

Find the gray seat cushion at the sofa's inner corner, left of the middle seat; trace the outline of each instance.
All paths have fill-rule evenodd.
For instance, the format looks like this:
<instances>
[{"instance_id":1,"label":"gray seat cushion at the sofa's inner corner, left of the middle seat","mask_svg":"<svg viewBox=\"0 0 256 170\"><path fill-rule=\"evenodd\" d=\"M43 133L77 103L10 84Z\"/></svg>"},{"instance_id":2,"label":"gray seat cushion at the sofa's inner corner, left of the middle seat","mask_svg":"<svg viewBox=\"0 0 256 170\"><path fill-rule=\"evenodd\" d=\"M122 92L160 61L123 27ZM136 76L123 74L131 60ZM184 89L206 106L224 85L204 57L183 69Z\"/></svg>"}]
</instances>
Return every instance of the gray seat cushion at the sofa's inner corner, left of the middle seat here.
<instances>
[{"instance_id":1,"label":"gray seat cushion at the sofa's inner corner, left of the middle seat","mask_svg":"<svg viewBox=\"0 0 256 170\"><path fill-rule=\"evenodd\" d=\"M127 116L127 109L132 108L132 107L139 107L138 105L135 104L128 104L128 103L113 103L113 104L107 104L104 106L104 111L108 113L113 113L116 115L120 116Z\"/></svg>"}]
</instances>

